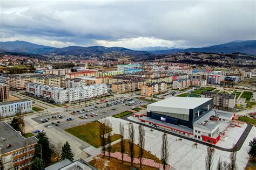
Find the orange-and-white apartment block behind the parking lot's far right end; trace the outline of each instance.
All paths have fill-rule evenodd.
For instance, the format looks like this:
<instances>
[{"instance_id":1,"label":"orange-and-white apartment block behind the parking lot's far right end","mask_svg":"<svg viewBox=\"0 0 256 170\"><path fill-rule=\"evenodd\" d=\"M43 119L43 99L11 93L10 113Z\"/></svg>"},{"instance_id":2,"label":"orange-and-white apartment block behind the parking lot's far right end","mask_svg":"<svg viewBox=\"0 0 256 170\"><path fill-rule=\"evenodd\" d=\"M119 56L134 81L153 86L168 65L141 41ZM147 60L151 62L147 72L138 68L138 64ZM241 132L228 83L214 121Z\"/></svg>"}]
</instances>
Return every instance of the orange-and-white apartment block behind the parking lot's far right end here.
<instances>
[{"instance_id":1,"label":"orange-and-white apartment block behind the parking lot's far right end","mask_svg":"<svg viewBox=\"0 0 256 170\"><path fill-rule=\"evenodd\" d=\"M152 83L142 86L141 94L143 96L153 96L159 93L164 93L167 90L167 83Z\"/></svg>"}]
</instances>

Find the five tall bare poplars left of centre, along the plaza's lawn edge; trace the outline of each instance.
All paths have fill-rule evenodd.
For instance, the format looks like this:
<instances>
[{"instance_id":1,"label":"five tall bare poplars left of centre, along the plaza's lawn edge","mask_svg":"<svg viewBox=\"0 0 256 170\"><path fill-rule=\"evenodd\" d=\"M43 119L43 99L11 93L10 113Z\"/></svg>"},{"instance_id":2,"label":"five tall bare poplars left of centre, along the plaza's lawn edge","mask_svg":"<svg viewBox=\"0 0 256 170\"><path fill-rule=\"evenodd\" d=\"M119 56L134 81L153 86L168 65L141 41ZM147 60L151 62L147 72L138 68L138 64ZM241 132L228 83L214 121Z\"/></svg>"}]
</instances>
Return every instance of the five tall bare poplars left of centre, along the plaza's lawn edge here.
<instances>
[{"instance_id":1,"label":"five tall bare poplars left of centre, along the plaza's lawn edge","mask_svg":"<svg viewBox=\"0 0 256 170\"><path fill-rule=\"evenodd\" d=\"M103 157L105 157L105 151L109 151L109 159L110 159L110 152L111 152L111 123L108 119L104 118L100 122L100 128L99 128L99 137L100 137L100 145L102 147L103 151ZM134 126L132 123L129 123L129 128L128 128L128 145L129 145L129 151L126 151L125 147L125 132L124 132L124 125L120 123L119 125L119 132L121 135L120 138L120 152L121 152L121 157L122 157L122 163L124 162L124 154L126 152L129 153L130 158L131 158L131 166L133 166L133 160L134 160L134 141L135 141L135 130ZM139 160L140 160L140 167L142 167L142 162L143 162L143 155L144 155L144 147L145 147L145 130L143 126L139 125L138 126L138 155L139 155ZM163 164L164 169L166 169L167 162L169 160L169 148L170 145L167 141L167 134L164 133L162 136L162 146L161 146L161 162Z\"/></svg>"}]
</instances>

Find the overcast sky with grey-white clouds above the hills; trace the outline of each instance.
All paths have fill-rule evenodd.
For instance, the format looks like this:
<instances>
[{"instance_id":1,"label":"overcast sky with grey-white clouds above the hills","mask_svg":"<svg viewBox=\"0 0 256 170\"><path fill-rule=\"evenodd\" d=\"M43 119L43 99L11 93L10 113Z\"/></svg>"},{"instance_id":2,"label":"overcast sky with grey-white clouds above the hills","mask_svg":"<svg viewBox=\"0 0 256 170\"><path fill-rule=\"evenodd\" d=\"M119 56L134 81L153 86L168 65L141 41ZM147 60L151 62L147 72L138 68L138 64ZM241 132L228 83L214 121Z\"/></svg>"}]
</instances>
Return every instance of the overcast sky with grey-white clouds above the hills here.
<instances>
[{"instance_id":1,"label":"overcast sky with grey-white clouds above the hills","mask_svg":"<svg viewBox=\"0 0 256 170\"><path fill-rule=\"evenodd\" d=\"M255 0L0 0L0 41L203 47L256 39Z\"/></svg>"}]
</instances>

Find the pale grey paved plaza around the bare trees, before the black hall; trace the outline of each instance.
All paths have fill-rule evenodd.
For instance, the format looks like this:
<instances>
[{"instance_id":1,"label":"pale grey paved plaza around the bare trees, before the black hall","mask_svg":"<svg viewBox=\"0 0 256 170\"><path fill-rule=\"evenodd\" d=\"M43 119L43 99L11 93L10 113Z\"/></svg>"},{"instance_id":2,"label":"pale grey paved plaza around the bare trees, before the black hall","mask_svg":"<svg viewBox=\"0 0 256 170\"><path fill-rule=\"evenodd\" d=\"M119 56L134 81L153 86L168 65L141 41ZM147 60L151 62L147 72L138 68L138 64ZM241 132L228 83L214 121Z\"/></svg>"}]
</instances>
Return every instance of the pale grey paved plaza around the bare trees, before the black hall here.
<instances>
[{"instance_id":1,"label":"pale grey paved plaza around the bare trees, before the black hall","mask_svg":"<svg viewBox=\"0 0 256 170\"><path fill-rule=\"evenodd\" d=\"M113 133L119 133L120 122L124 124L125 138L128 135L128 125L130 122L120 118L107 117L112 123ZM135 130L135 143L138 143L138 124L133 124ZM145 150L151 151L152 154L160 158L161 150L161 135L163 132L152 130L150 128L145 129ZM255 137L256 128L253 127L251 132L248 134L241 149L237 152L237 167L238 169L244 169L248 162L249 150L248 143ZM170 160L169 164L175 169L205 169L205 156L207 146L198 144L197 147L193 147L194 142L186 139L177 140L176 136L167 134L168 141L170 144ZM222 161L230 161L230 152L220 151L215 149L213 169L216 169L219 158Z\"/></svg>"}]
</instances>

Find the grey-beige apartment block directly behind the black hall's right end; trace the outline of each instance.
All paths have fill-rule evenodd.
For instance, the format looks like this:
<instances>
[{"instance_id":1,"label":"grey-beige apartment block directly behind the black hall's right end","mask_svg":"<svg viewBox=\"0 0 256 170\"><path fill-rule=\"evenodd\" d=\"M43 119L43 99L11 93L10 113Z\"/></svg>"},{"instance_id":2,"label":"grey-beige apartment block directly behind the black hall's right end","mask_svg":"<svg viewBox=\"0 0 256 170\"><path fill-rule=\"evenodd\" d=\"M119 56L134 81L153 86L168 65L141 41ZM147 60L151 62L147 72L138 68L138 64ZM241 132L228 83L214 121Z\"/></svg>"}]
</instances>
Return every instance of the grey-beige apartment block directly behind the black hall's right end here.
<instances>
[{"instance_id":1,"label":"grey-beige apartment block directly behind the black hall's right end","mask_svg":"<svg viewBox=\"0 0 256 170\"><path fill-rule=\"evenodd\" d=\"M213 98L213 106L218 109L233 110L235 107L235 95L205 91L201 97Z\"/></svg>"}]
</instances>

